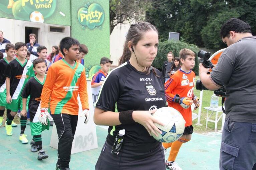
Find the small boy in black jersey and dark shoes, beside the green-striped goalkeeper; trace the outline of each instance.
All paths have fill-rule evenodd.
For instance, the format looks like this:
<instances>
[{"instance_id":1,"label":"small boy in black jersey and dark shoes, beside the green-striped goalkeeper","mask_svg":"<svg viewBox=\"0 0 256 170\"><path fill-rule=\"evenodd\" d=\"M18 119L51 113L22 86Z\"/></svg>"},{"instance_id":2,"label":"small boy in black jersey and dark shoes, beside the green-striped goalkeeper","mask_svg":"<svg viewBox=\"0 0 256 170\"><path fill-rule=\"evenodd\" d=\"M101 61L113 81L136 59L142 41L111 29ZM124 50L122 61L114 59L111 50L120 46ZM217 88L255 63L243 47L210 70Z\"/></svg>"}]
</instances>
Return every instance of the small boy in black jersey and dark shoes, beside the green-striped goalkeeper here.
<instances>
[{"instance_id":1,"label":"small boy in black jersey and dark shoes, beside the green-striped goalkeeper","mask_svg":"<svg viewBox=\"0 0 256 170\"><path fill-rule=\"evenodd\" d=\"M40 96L42 93L43 85L45 82L45 71L46 71L46 63L43 59L35 59L33 61L33 69L37 73L36 76L29 79L27 84L25 85L24 89L22 90L22 110L21 115L26 116L27 109L26 103L27 98L30 95L28 109L30 114L30 129L31 135L33 135L33 139L30 142L31 145L31 152L38 151L38 160L42 160L48 158L48 155L45 154L44 150L42 149L42 131L47 129L49 130L49 123L48 125L42 125L38 121L38 116L40 113Z\"/></svg>"}]
</instances>

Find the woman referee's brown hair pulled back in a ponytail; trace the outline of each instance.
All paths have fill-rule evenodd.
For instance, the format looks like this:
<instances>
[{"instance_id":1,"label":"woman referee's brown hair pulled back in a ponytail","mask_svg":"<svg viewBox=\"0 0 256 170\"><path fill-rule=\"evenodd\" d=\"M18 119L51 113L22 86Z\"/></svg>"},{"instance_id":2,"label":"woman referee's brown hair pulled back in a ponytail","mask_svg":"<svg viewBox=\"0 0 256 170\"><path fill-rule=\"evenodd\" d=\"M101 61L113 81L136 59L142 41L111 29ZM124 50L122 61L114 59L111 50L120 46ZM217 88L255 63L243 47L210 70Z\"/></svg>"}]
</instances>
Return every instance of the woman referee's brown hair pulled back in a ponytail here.
<instances>
[{"instance_id":1,"label":"woman referee's brown hair pulled back in a ponytail","mask_svg":"<svg viewBox=\"0 0 256 170\"><path fill-rule=\"evenodd\" d=\"M125 63L126 61L130 60L130 58L131 58L132 53L129 50L128 42L131 41L133 43L133 46L135 46L138 43L138 41L140 41L142 39L142 36L146 32L151 31L151 30L156 31L158 33L156 27L148 22L138 22L138 23L132 24L130 26L130 28L127 32L126 38L125 38L123 54L118 61L118 65ZM157 75L155 69L153 69L152 71L155 75ZM150 67L147 67L145 72L149 73Z\"/></svg>"}]
</instances>

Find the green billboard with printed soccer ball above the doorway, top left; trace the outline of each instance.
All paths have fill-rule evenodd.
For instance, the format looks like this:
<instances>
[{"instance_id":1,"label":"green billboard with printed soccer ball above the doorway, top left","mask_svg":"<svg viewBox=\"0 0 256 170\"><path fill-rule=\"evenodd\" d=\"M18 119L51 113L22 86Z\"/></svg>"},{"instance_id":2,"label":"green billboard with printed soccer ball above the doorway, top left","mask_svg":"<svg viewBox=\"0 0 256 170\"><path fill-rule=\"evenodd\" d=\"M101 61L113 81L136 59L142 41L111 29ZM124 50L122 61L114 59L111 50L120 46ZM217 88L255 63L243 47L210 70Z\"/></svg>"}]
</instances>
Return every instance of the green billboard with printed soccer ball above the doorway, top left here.
<instances>
[{"instance_id":1,"label":"green billboard with printed soccer ball above the doorway, top left","mask_svg":"<svg viewBox=\"0 0 256 170\"><path fill-rule=\"evenodd\" d=\"M0 17L70 26L70 0L0 0Z\"/></svg>"}]
</instances>

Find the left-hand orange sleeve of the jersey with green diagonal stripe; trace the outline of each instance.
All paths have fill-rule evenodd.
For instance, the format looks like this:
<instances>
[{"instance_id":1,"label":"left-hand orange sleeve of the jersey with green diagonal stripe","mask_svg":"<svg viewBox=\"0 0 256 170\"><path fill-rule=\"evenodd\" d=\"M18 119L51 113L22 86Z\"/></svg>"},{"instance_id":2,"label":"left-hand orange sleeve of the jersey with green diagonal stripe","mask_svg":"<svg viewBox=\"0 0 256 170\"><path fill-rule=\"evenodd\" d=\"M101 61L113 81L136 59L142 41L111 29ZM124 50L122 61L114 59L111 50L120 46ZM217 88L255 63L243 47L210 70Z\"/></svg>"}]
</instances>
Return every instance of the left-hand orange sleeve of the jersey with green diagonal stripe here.
<instances>
[{"instance_id":1,"label":"left-hand orange sleeve of the jersey with green diagonal stripe","mask_svg":"<svg viewBox=\"0 0 256 170\"><path fill-rule=\"evenodd\" d=\"M57 77L57 74L55 73L53 67L50 67L48 70L48 74L46 76L45 83L43 85L43 89L42 89L41 108L49 107L50 96L51 96L52 88L55 83L56 77Z\"/></svg>"}]
</instances>

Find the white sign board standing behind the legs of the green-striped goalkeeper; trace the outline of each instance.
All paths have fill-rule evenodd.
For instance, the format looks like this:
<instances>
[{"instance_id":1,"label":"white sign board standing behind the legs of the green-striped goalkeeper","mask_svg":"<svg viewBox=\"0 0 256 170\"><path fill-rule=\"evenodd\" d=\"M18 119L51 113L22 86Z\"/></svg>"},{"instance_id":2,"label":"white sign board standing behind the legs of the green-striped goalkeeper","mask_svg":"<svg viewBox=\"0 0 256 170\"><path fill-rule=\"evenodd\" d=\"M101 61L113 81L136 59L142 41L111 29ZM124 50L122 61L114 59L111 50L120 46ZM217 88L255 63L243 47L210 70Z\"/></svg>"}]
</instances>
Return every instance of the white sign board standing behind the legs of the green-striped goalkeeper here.
<instances>
[{"instance_id":1,"label":"white sign board standing behind the legs of the green-striped goalkeeper","mask_svg":"<svg viewBox=\"0 0 256 170\"><path fill-rule=\"evenodd\" d=\"M93 103L92 103L92 92L91 92L91 82L87 80L87 93L88 102L90 109L90 119L87 124L84 124L84 117L78 115L78 122L76 126L75 136L73 140L73 145L71 149L71 154L83 152L90 149L95 149L98 147L97 136L96 136L96 126L93 122ZM82 106L79 96L77 97L79 102L79 113L82 112ZM50 147L55 149L58 148L58 135L55 124L52 128Z\"/></svg>"}]
</instances>

